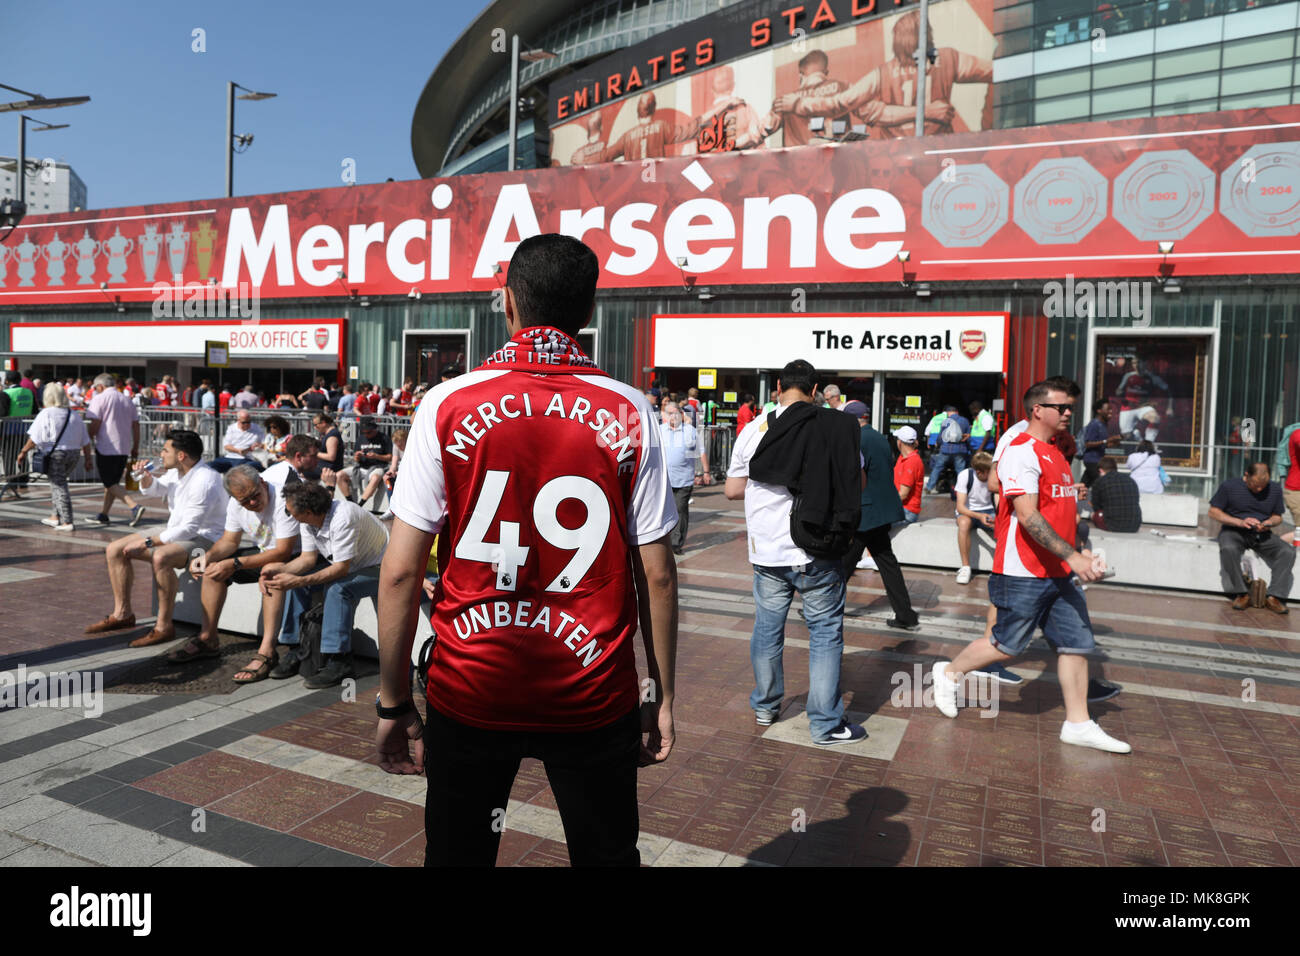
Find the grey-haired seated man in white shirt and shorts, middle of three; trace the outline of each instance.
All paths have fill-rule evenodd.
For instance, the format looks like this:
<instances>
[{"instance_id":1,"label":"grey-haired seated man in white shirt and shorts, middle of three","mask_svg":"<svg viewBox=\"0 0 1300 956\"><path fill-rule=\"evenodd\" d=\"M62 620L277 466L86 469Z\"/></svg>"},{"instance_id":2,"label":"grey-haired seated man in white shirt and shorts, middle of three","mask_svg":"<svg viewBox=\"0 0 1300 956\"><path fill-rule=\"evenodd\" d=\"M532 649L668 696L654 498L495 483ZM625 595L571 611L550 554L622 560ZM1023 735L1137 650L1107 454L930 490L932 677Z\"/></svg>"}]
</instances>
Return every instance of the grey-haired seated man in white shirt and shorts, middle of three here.
<instances>
[{"instance_id":1,"label":"grey-haired seated man in white shirt and shorts, middle of three","mask_svg":"<svg viewBox=\"0 0 1300 956\"><path fill-rule=\"evenodd\" d=\"M203 579L200 605L203 618L199 635L168 656L172 663L187 663L221 656L217 626L226 592L231 584L256 584L261 568L283 563L298 553L300 529L285 510L283 485L273 483L256 468L237 464L225 473L222 485L230 496L226 503L225 533L207 554L190 562L190 574ZM240 548L247 535L251 548ZM276 635L285 613L285 592L264 591L261 596L261 646L252 662L238 671L237 684L251 684L265 678L276 666Z\"/></svg>"}]
</instances>

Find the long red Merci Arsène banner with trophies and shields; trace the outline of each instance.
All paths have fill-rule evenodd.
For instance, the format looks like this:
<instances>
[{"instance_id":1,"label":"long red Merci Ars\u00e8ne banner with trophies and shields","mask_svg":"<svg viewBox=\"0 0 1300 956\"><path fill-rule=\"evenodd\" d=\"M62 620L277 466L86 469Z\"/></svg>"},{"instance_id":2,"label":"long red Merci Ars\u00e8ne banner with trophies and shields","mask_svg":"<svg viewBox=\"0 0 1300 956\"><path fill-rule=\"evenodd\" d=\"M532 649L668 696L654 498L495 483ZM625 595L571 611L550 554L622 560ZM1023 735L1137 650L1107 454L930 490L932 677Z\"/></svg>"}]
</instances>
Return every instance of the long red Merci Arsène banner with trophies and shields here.
<instances>
[{"instance_id":1,"label":"long red Merci Ars\u00e8ne banner with trophies and shields","mask_svg":"<svg viewBox=\"0 0 1300 956\"><path fill-rule=\"evenodd\" d=\"M0 307L174 302L177 276L186 302L490 294L538 233L582 238L607 289L1018 280L1114 317L1132 297L1078 280L1295 269L1300 107L34 216Z\"/></svg>"}]
</instances>

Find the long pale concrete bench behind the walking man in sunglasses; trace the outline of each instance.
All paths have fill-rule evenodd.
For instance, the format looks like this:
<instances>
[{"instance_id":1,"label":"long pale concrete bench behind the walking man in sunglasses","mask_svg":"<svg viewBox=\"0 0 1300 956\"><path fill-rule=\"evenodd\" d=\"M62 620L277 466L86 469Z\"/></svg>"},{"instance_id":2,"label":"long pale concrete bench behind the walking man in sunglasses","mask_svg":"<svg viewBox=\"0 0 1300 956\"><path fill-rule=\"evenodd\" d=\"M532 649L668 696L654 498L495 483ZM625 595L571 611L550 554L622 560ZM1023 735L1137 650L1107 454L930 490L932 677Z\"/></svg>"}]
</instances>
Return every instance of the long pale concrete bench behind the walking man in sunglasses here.
<instances>
[{"instance_id":1,"label":"long pale concrete bench behind the walking man in sunglasses","mask_svg":"<svg viewBox=\"0 0 1300 956\"><path fill-rule=\"evenodd\" d=\"M1106 583L1208 594L1222 594L1227 588L1219 570L1218 542L1214 538L1191 535L1169 537L1150 531L1117 535L1097 529L1089 537L1093 550L1105 550L1106 563L1115 568L1115 576L1106 579ZM1191 540L1178 540L1182 537ZM957 520L930 518L910 524L893 536L893 550L902 564L956 570L961 566ZM989 571L992 566L992 537L971 532L971 568ZM1296 578L1290 597L1292 601L1300 600L1300 576Z\"/></svg>"}]
</instances>

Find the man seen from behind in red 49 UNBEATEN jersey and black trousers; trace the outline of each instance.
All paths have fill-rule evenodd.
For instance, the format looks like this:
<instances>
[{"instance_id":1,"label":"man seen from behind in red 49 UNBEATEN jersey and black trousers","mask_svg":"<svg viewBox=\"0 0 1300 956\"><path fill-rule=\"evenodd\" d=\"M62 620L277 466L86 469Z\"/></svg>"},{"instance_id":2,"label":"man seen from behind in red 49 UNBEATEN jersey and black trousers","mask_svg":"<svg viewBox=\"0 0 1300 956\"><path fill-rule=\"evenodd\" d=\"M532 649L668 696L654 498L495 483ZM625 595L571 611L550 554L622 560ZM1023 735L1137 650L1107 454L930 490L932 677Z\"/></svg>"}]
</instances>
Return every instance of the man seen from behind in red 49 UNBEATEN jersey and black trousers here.
<instances>
[{"instance_id":1,"label":"man seen from behind in red 49 UNBEATEN jersey and black trousers","mask_svg":"<svg viewBox=\"0 0 1300 956\"><path fill-rule=\"evenodd\" d=\"M380 578L376 744L389 773L428 771L425 865L493 865L524 757L546 766L573 865L640 862L637 765L675 739L677 511L654 412L576 341L598 272L578 239L519 243L510 341L411 424ZM424 727L410 662L434 535Z\"/></svg>"}]
</instances>

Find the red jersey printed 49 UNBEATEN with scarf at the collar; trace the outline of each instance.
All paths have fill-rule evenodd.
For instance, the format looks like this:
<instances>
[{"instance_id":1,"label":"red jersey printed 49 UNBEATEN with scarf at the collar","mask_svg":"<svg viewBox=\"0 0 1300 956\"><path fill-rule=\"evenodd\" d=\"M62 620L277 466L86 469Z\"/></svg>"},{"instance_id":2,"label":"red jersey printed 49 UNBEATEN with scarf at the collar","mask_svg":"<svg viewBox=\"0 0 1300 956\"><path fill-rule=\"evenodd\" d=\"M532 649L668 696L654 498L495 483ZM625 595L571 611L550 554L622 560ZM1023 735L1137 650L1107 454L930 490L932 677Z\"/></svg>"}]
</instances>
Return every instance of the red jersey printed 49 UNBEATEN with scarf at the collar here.
<instances>
[{"instance_id":1,"label":"red jersey printed 49 UNBEATEN with scarf at the collar","mask_svg":"<svg viewBox=\"0 0 1300 956\"><path fill-rule=\"evenodd\" d=\"M630 549L677 522L654 412L564 333L525 329L428 393L393 497L439 532L429 704L584 731L638 701Z\"/></svg>"}]
</instances>

